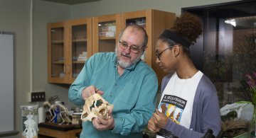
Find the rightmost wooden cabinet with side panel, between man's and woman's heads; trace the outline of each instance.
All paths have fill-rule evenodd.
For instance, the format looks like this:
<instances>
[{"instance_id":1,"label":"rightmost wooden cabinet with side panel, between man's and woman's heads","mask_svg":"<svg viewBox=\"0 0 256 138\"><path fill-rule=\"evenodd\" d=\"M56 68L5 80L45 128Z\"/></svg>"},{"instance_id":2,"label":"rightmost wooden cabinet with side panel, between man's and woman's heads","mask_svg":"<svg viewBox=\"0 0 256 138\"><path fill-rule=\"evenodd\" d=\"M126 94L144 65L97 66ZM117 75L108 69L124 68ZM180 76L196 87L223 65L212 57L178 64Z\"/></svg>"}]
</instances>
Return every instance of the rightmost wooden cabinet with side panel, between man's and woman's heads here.
<instances>
[{"instance_id":1,"label":"rightmost wooden cabinet with side panel, between man's and woman's heads","mask_svg":"<svg viewBox=\"0 0 256 138\"><path fill-rule=\"evenodd\" d=\"M159 69L158 65L156 64L156 40L166 28L171 28L174 25L175 19L175 13L153 9L126 12L122 13L121 15L122 28L125 25L137 23L146 29L146 33L149 35L149 42L147 45L147 50L144 52L142 59L144 62L146 62L146 64L149 64L149 66L152 67L154 71L156 71L159 83L161 83L161 79L166 74L161 69Z\"/></svg>"}]
</instances>

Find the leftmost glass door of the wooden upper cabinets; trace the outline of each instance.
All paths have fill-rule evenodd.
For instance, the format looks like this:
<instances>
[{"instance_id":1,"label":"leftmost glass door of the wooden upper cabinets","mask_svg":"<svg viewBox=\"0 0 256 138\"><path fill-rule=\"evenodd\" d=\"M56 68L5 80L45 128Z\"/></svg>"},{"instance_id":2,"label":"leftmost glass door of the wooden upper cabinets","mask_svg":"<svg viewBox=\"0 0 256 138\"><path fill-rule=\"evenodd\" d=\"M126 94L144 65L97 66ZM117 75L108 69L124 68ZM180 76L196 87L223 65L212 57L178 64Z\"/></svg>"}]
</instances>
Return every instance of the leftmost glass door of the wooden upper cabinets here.
<instances>
[{"instance_id":1,"label":"leftmost glass door of the wooden upper cabinets","mask_svg":"<svg viewBox=\"0 0 256 138\"><path fill-rule=\"evenodd\" d=\"M48 24L48 81L60 83L65 80L64 23Z\"/></svg>"}]
</instances>

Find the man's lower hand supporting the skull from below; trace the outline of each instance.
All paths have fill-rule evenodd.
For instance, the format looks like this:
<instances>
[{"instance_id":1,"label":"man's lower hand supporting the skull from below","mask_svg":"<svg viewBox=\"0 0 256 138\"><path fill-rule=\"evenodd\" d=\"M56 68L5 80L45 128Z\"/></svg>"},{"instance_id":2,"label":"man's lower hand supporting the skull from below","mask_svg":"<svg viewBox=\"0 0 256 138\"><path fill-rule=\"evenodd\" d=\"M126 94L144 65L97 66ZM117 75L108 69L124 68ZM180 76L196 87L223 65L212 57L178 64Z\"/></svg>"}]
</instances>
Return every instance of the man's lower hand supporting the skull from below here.
<instances>
[{"instance_id":1,"label":"man's lower hand supporting the skull from below","mask_svg":"<svg viewBox=\"0 0 256 138\"><path fill-rule=\"evenodd\" d=\"M114 128L114 118L112 117L112 110L109 110L109 117L103 119L102 117L97 117L92 120L92 125L97 130L112 130Z\"/></svg>"}]
</instances>

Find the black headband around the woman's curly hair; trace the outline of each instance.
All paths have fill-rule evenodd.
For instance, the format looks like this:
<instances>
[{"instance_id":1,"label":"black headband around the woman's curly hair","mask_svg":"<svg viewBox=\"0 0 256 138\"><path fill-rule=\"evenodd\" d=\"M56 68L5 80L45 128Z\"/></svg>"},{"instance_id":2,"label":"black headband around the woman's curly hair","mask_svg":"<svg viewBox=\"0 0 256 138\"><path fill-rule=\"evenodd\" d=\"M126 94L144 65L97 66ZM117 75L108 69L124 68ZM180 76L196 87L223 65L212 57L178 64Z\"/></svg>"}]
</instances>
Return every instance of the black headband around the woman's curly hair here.
<instances>
[{"instance_id":1,"label":"black headband around the woman's curly hair","mask_svg":"<svg viewBox=\"0 0 256 138\"><path fill-rule=\"evenodd\" d=\"M171 30L164 30L164 32L160 36L173 40L174 42L177 42L185 47L189 47L191 45L191 42L184 40L180 35L177 35Z\"/></svg>"}]
</instances>

